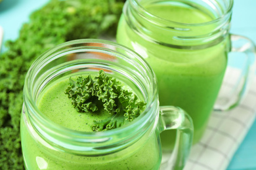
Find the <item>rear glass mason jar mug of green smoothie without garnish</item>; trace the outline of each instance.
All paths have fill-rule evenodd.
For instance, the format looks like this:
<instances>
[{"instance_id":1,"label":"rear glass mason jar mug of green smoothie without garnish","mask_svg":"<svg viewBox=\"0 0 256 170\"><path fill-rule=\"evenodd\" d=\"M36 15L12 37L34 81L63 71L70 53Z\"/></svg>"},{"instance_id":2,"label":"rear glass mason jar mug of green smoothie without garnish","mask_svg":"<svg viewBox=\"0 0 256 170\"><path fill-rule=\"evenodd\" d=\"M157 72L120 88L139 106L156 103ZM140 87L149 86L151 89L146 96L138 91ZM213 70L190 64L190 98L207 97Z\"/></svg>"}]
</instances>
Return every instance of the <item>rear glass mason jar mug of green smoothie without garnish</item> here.
<instances>
[{"instance_id":1,"label":"rear glass mason jar mug of green smoothie without garnish","mask_svg":"<svg viewBox=\"0 0 256 170\"><path fill-rule=\"evenodd\" d=\"M215 103L218 110L238 105L255 68L253 43L229 33L232 5L232 0L127 0L119 20L117 42L148 61L158 78L160 105L177 105L190 114L194 143ZM217 100L230 52L245 54L244 71ZM164 146L173 144L169 136L175 135L161 134Z\"/></svg>"}]
</instances>

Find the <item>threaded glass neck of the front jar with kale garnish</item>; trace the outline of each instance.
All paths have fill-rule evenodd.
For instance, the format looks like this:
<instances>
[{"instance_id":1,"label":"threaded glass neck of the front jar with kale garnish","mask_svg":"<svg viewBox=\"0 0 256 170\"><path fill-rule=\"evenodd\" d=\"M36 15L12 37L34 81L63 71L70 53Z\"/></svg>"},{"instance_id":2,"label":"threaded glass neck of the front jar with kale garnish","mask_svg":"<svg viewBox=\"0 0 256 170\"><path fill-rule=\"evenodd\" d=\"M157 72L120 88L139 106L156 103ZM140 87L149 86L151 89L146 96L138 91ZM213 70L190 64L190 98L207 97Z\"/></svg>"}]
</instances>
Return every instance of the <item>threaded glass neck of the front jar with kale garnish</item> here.
<instances>
[{"instance_id":1,"label":"threaded glass neck of the front jar with kale garnish","mask_svg":"<svg viewBox=\"0 0 256 170\"><path fill-rule=\"evenodd\" d=\"M105 69L136 88L148 103L144 112L127 126L87 133L60 126L37 108L37 99L47 86L91 68ZM77 155L110 154L134 143L152 127L158 117L156 86L149 65L124 46L96 39L65 42L39 56L30 67L24 85L24 114L33 131L55 148Z\"/></svg>"}]
</instances>

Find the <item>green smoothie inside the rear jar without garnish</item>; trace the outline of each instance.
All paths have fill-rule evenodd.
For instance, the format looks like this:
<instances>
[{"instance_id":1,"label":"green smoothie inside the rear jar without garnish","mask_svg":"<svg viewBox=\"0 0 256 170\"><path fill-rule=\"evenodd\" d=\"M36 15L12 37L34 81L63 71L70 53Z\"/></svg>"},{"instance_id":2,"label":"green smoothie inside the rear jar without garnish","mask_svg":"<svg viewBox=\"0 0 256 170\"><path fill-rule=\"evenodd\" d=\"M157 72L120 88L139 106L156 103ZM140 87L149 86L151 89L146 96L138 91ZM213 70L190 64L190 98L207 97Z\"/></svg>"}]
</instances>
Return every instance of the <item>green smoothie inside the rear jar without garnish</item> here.
<instances>
[{"instance_id":1,"label":"green smoothie inside the rear jar without garnish","mask_svg":"<svg viewBox=\"0 0 256 170\"><path fill-rule=\"evenodd\" d=\"M153 3L142 6L151 14L163 18L165 23L198 24L213 20L213 16L188 5ZM228 39L202 49L182 48L185 42L177 40L174 30L168 33L166 30L169 28L159 29L156 25L150 26L149 21L142 18L138 20L138 23L147 26L146 36L181 46L177 48L150 41L143 34L139 35L136 28L129 26L133 24L127 25L124 15L119 21L117 42L132 48L148 61L158 78L160 105L175 105L190 114L194 121L194 143L197 143L207 126L221 87L227 64ZM141 27L138 29L143 30ZM192 31L196 34L202 30ZM173 143L174 135L164 131L161 139L165 147Z\"/></svg>"}]
</instances>

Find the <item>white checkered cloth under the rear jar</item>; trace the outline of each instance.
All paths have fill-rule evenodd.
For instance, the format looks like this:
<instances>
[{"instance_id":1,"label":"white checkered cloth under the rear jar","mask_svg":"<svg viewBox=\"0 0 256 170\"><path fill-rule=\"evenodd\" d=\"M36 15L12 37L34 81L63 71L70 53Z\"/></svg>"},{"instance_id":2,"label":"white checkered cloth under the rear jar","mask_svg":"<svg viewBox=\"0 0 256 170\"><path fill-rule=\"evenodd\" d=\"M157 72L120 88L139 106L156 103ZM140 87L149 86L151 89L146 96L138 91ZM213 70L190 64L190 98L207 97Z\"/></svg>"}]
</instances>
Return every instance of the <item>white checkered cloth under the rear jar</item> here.
<instances>
[{"instance_id":1,"label":"white checkered cloth under the rear jar","mask_svg":"<svg viewBox=\"0 0 256 170\"><path fill-rule=\"evenodd\" d=\"M236 75L234 70L227 70L228 78L224 79L224 89L234 82L230 74ZM240 105L232 110L212 112L202 139L192 146L184 170L226 169L256 117L256 77L253 78Z\"/></svg>"}]
</instances>

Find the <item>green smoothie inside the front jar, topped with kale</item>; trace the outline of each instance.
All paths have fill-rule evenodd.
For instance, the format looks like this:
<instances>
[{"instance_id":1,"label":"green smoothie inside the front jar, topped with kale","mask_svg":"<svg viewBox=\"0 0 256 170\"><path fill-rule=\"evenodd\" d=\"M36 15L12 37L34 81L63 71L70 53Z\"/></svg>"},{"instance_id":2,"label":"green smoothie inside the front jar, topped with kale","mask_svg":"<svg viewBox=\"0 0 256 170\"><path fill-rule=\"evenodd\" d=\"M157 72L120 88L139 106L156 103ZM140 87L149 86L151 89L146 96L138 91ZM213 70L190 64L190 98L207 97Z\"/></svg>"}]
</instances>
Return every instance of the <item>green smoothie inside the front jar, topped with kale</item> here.
<instances>
[{"instance_id":1,"label":"green smoothie inside the front jar, topped with kale","mask_svg":"<svg viewBox=\"0 0 256 170\"><path fill-rule=\"evenodd\" d=\"M73 78L73 77L72 77ZM75 79L75 78L74 78ZM108 118L104 110L96 113L77 112L64 93L69 78L52 83L39 96L37 107L50 120L75 131L93 132L93 121ZM123 84L125 86L125 84ZM129 87L126 87L129 89ZM26 129L26 126L30 129ZM31 133L32 131L32 133ZM98 132L95 132L95 134ZM33 133L21 121L22 152L30 169L158 169L161 162L158 132L148 131L139 141L119 152L102 156L77 156L58 150Z\"/></svg>"}]
</instances>

